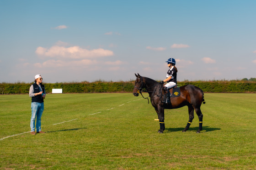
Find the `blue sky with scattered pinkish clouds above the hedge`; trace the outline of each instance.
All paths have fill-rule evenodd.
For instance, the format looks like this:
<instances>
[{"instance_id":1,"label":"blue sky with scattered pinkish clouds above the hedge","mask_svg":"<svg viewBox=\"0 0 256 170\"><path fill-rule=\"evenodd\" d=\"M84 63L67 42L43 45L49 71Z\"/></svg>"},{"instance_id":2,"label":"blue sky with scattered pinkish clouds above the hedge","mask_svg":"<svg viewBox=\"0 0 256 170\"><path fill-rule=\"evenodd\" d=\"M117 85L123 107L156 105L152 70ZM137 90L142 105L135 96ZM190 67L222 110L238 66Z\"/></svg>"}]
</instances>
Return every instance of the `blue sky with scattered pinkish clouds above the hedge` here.
<instances>
[{"instance_id":1,"label":"blue sky with scattered pinkish clouds above the hedge","mask_svg":"<svg viewBox=\"0 0 256 170\"><path fill-rule=\"evenodd\" d=\"M256 77L256 0L0 0L0 83Z\"/></svg>"}]
</instances>

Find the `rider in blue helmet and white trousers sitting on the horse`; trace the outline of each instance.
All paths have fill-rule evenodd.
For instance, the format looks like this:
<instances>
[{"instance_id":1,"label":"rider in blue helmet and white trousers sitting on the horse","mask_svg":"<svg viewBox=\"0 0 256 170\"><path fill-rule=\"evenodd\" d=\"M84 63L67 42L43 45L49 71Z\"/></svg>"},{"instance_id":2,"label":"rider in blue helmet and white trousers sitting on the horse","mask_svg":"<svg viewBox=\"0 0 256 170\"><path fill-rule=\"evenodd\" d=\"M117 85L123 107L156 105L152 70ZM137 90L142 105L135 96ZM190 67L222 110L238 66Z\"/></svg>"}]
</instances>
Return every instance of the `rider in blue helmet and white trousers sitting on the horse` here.
<instances>
[{"instance_id":1,"label":"rider in blue helmet and white trousers sitting on the horse","mask_svg":"<svg viewBox=\"0 0 256 170\"><path fill-rule=\"evenodd\" d=\"M167 84L164 86L164 91L165 93L167 93L167 103L171 103L170 101L170 93L168 89L171 89L172 87L177 85L177 68L175 66L176 61L174 58L170 58L167 61L168 67L170 67L170 69L168 70L167 74L166 74L166 79L161 81L161 83L167 82Z\"/></svg>"}]
</instances>

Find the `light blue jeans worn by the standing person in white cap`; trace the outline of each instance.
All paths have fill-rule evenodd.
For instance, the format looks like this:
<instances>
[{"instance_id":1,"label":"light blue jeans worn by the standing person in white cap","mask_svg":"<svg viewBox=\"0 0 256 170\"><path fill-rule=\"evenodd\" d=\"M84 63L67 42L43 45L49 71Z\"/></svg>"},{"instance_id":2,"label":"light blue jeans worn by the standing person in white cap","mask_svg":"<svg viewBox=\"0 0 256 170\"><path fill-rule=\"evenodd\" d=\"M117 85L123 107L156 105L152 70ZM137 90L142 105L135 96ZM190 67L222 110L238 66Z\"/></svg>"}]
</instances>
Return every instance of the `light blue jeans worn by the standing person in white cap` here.
<instances>
[{"instance_id":1,"label":"light blue jeans worn by the standing person in white cap","mask_svg":"<svg viewBox=\"0 0 256 170\"><path fill-rule=\"evenodd\" d=\"M31 110L32 110L32 115L31 115L31 120L30 120L30 127L31 131L35 131L35 121L37 117L37 132L41 131L41 116L43 115L43 103L37 103L37 102L32 102L31 103Z\"/></svg>"}]
</instances>

